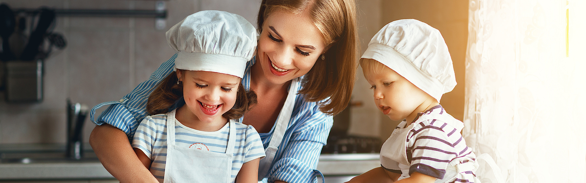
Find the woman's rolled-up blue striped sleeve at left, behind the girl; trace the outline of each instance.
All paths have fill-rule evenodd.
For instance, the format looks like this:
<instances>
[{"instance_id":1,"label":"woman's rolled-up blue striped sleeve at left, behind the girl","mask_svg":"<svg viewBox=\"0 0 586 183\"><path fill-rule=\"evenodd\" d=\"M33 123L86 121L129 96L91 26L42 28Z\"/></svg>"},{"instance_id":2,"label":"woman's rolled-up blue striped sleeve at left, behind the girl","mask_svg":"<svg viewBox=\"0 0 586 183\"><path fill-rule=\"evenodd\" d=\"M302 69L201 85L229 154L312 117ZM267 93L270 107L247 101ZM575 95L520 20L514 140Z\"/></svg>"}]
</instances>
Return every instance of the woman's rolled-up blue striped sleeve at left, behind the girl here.
<instances>
[{"instance_id":1,"label":"woman's rolled-up blue striped sleeve at left, behind the girl","mask_svg":"<svg viewBox=\"0 0 586 183\"><path fill-rule=\"evenodd\" d=\"M126 133L129 140L132 140L132 136L137 130L139 122L148 115L148 96L162 79L173 72L175 57L177 57L177 54L159 66L159 69L155 70L148 80L138 84L131 93L122 97L122 99L108 101L94 106L90 111L91 121L98 126L107 123L117 127ZM100 116L95 117L96 110L104 106L108 106L108 108Z\"/></svg>"}]
</instances>

